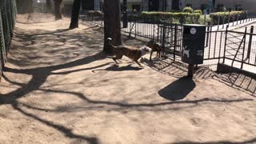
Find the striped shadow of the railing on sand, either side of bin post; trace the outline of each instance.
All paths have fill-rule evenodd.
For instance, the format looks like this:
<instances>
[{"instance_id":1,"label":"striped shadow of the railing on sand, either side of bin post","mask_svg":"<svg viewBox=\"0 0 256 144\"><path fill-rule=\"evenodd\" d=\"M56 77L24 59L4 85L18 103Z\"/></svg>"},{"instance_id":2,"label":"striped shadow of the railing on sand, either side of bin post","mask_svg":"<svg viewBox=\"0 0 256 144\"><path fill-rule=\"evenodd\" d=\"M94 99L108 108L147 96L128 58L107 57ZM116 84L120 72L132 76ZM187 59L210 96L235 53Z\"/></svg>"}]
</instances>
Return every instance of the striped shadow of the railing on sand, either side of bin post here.
<instances>
[{"instance_id":1,"label":"striped shadow of the railing on sand, either side of bin post","mask_svg":"<svg viewBox=\"0 0 256 144\"><path fill-rule=\"evenodd\" d=\"M147 66L159 73L170 75L175 78L182 78L187 74L187 66L182 62L173 62L170 58L164 58L162 61L154 60L149 62L146 58L141 60ZM244 74L230 73L218 74L210 70L207 66L200 66L194 72L194 78L214 79L237 90L242 90L247 94L256 97L256 79L250 78Z\"/></svg>"}]
</instances>

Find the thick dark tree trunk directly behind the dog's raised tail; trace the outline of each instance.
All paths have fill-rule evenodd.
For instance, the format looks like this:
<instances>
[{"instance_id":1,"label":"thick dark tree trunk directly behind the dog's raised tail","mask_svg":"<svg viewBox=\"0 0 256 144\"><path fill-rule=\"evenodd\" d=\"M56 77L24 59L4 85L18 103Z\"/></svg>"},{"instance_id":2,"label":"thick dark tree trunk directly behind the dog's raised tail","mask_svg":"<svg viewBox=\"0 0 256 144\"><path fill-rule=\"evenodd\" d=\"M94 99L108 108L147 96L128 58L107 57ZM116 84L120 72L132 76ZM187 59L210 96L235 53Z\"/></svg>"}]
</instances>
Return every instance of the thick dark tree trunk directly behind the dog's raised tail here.
<instances>
[{"instance_id":1,"label":"thick dark tree trunk directly behind the dog's raised tail","mask_svg":"<svg viewBox=\"0 0 256 144\"><path fill-rule=\"evenodd\" d=\"M121 8L120 0L104 0L104 48L106 53L113 50L106 42L106 38L112 38L114 46L122 45L121 38Z\"/></svg>"}]
</instances>

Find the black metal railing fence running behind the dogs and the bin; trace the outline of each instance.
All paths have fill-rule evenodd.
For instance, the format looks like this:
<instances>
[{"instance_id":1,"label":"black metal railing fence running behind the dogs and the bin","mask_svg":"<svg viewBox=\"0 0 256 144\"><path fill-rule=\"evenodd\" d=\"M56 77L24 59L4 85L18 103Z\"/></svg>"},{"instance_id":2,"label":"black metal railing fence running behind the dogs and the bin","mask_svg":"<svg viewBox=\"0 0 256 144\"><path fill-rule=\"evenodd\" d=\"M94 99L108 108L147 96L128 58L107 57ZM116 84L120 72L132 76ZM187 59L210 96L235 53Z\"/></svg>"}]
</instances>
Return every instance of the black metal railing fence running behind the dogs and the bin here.
<instances>
[{"instance_id":1,"label":"black metal railing fence running behind the dogs and the bin","mask_svg":"<svg viewBox=\"0 0 256 144\"><path fill-rule=\"evenodd\" d=\"M253 15L229 21L226 24L206 27L206 42L203 66L216 70L218 63L238 67L256 73L256 33L254 27L242 31L228 30L229 26L254 21ZM103 14L85 14L87 23L104 26ZM226 28L226 29L225 29ZM222 29L222 30L221 30ZM163 45L163 54L174 61L182 55L182 24L174 24L166 20L129 19L127 28L122 32L130 37L154 39Z\"/></svg>"}]
</instances>

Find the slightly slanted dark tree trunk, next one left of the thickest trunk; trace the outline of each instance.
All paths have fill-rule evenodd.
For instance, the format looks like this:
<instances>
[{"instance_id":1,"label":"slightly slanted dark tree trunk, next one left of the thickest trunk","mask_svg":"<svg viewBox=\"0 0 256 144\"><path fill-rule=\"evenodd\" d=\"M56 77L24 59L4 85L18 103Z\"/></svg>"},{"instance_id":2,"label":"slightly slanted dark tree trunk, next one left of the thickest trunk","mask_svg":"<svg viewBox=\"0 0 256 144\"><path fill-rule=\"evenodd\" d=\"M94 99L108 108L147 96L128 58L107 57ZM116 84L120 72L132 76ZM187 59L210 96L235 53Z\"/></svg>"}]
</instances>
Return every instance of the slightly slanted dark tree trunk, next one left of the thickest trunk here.
<instances>
[{"instance_id":1,"label":"slightly slanted dark tree trunk, next one left of the thickest trunk","mask_svg":"<svg viewBox=\"0 0 256 144\"><path fill-rule=\"evenodd\" d=\"M71 14L70 29L78 28L79 11L82 0L74 0Z\"/></svg>"}]
</instances>

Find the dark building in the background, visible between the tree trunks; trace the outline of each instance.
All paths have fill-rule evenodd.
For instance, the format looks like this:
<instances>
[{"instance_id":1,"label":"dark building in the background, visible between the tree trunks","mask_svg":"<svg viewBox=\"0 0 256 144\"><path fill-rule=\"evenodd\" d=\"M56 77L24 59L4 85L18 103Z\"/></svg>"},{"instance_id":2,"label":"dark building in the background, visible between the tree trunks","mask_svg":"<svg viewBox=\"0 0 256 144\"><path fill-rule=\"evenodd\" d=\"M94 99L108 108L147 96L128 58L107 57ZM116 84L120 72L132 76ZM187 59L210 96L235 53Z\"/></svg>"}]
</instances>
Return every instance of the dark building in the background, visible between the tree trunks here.
<instances>
[{"instance_id":1,"label":"dark building in the background, visible between the tree trunks","mask_svg":"<svg viewBox=\"0 0 256 144\"><path fill-rule=\"evenodd\" d=\"M20 0L19 0L20 1ZM34 0L34 2L45 3L46 0ZM53 2L53 1L52 1ZM63 0L64 14L70 14L74 0ZM102 10L104 0L82 0L82 10ZM121 5L122 5L121 0ZM219 7L226 10L249 10L256 13L256 0L127 0L127 10L136 11L172 11L182 10L190 6L194 10L216 11ZM54 7L54 6L52 6Z\"/></svg>"}]
</instances>

